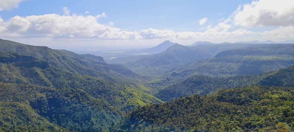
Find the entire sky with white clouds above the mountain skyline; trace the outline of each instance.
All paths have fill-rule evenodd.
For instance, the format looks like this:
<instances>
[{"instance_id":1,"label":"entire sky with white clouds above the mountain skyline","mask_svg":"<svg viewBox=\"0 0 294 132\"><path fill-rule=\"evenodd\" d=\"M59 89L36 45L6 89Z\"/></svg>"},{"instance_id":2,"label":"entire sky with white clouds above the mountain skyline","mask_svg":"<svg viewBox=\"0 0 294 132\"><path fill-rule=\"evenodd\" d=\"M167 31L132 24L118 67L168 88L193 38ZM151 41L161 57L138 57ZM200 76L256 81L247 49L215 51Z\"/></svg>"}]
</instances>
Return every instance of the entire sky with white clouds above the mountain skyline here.
<instances>
[{"instance_id":1,"label":"entire sky with white clouds above the mountain skyline","mask_svg":"<svg viewBox=\"0 0 294 132\"><path fill-rule=\"evenodd\" d=\"M294 0L0 0L0 38L71 51L294 39Z\"/></svg>"}]
</instances>

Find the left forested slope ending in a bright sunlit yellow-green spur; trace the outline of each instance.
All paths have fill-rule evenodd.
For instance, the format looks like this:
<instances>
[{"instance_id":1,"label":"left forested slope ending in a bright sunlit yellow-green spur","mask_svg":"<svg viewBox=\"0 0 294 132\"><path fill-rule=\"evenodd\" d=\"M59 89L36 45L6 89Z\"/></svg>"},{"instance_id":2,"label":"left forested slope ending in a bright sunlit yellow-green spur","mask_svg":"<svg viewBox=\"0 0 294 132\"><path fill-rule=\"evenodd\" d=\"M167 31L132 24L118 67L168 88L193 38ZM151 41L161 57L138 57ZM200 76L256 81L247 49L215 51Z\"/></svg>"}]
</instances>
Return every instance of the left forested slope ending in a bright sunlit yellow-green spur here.
<instances>
[{"instance_id":1,"label":"left forested slope ending in a bright sunlit yellow-green spur","mask_svg":"<svg viewBox=\"0 0 294 132\"><path fill-rule=\"evenodd\" d=\"M0 52L0 56L4 56L1 55L1 53L9 54L7 52ZM34 58L31 58L31 61L34 60ZM122 111L130 111L146 104L161 102L159 99L146 94L148 89L144 88L142 85L119 85L96 77L63 71L52 66L23 67L15 64L16 63L0 62L1 82L34 84L57 89L82 89L97 99L106 100Z\"/></svg>"}]
</instances>

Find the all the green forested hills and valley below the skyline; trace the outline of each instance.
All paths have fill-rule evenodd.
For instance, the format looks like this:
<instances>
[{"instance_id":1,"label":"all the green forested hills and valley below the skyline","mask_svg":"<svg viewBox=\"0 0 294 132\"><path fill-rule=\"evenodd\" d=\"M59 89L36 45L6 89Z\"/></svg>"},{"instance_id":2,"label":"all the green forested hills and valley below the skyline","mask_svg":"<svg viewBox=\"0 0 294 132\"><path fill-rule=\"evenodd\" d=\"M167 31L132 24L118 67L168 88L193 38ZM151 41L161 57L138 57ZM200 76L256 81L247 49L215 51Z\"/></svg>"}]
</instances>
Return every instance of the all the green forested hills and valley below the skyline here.
<instances>
[{"instance_id":1,"label":"all the green forested hills and valley below the skyline","mask_svg":"<svg viewBox=\"0 0 294 132\"><path fill-rule=\"evenodd\" d=\"M137 74L0 39L0 131L293 131L294 46L261 46L175 44Z\"/></svg>"}]
</instances>

